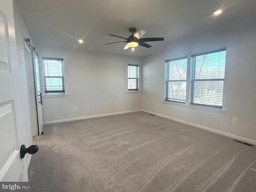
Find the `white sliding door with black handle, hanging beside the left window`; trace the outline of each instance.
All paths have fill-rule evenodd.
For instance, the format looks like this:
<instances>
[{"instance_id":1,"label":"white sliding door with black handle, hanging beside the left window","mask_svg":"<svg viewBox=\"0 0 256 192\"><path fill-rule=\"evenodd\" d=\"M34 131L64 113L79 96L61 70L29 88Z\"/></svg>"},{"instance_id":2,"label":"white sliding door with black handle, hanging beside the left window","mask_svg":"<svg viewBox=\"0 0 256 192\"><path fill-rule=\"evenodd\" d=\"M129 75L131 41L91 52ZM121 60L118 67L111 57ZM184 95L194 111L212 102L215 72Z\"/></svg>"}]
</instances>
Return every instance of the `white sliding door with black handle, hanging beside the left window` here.
<instances>
[{"instance_id":1,"label":"white sliding door with black handle, hanging beside the left window","mask_svg":"<svg viewBox=\"0 0 256 192\"><path fill-rule=\"evenodd\" d=\"M37 116L38 116L38 128L39 134L41 134L43 130L43 112L42 112L42 93L40 88L40 76L39 76L39 65L38 65L38 56L34 54L35 62L35 82L36 82L36 95L37 95Z\"/></svg>"}]
</instances>

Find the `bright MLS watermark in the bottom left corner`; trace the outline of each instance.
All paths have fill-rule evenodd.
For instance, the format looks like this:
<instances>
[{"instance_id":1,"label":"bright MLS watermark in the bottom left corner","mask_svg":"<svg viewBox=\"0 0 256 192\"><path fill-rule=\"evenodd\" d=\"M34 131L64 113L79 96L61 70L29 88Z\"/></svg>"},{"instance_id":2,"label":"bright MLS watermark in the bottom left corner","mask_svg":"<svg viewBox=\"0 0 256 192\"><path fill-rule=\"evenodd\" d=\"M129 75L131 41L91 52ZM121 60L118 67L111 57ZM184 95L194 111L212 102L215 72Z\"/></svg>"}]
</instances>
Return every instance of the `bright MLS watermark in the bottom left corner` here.
<instances>
[{"instance_id":1,"label":"bright MLS watermark in the bottom left corner","mask_svg":"<svg viewBox=\"0 0 256 192\"><path fill-rule=\"evenodd\" d=\"M32 192L31 182L0 182L0 192Z\"/></svg>"}]
</instances>

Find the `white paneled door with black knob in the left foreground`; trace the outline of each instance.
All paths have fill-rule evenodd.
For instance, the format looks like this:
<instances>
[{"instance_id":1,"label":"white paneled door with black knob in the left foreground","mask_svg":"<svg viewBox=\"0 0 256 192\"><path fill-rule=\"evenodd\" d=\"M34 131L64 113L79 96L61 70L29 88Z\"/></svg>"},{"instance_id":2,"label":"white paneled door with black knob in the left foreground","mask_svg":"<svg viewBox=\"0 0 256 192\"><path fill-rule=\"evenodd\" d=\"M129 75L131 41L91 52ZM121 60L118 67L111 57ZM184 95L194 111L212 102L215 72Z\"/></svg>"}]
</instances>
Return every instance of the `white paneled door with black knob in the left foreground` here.
<instances>
[{"instance_id":1,"label":"white paneled door with black knob in the left foreground","mask_svg":"<svg viewBox=\"0 0 256 192\"><path fill-rule=\"evenodd\" d=\"M0 0L0 181L28 181L28 155L20 158L20 146L32 144L25 127L28 97L17 62L12 0ZM26 90L26 91L24 91ZM28 141L29 140L29 141Z\"/></svg>"}]
</instances>

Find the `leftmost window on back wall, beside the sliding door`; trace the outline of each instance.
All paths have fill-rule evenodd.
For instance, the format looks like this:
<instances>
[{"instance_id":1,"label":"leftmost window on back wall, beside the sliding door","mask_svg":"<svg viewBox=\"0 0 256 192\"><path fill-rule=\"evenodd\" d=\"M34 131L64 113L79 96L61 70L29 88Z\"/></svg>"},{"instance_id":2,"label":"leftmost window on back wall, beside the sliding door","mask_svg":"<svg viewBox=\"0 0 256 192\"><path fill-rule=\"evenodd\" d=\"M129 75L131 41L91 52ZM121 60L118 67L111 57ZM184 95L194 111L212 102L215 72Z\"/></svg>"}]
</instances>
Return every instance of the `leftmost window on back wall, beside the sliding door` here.
<instances>
[{"instance_id":1,"label":"leftmost window on back wall, beside the sliding door","mask_svg":"<svg viewBox=\"0 0 256 192\"><path fill-rule=\"evenodd\" d=\"M43 57L44 92L64 94L64 69L62 58Z\"/></svg>"}]
</instances>

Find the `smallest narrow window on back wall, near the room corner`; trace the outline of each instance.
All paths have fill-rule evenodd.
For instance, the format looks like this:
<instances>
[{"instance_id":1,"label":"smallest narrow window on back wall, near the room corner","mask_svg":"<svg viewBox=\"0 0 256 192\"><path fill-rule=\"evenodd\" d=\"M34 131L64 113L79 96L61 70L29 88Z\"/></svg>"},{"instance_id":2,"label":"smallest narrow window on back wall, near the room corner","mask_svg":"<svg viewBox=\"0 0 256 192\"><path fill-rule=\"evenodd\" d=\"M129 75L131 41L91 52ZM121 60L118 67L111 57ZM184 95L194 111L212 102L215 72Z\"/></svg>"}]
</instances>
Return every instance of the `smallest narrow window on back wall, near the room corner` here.
<instances>
[{"instance_id":1,"label":"smallest narrow window on back wall, near the room corner","mask_svg":"<svg viewBox=\"0 0 256 192\"><path fill-rule=\"evenodd\" d=\"M139 66L128 64L128 90L139 90Z\"/></svg>"}]
</instances>

